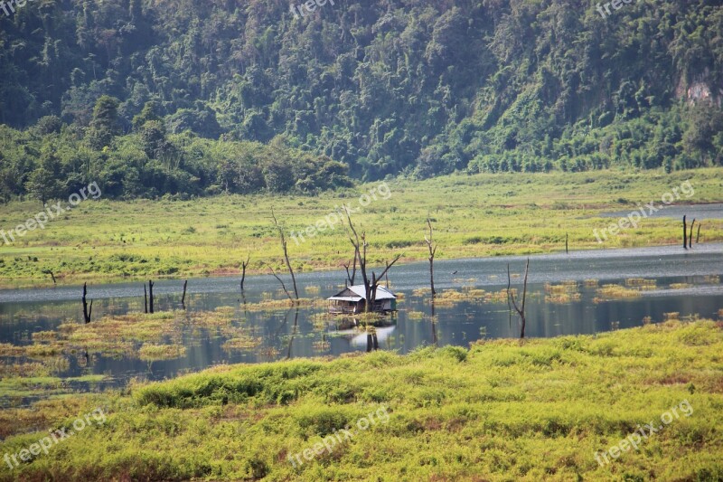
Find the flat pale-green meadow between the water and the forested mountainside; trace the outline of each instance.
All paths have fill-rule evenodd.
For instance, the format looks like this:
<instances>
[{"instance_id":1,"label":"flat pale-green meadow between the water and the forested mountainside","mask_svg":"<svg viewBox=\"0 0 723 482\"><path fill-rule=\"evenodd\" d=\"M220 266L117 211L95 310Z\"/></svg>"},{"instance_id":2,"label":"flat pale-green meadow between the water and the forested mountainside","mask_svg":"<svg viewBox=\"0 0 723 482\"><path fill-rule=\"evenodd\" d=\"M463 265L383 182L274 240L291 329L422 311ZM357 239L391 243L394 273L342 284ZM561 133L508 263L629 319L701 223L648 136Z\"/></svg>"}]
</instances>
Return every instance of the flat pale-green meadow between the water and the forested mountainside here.
<instances>
[{"instance_id":1,"label":"flat pale-green meadow between the water and the forested mountainside","mask_svg":"<svg viewBox=\"0 0 723 482\"><path fill-rule=\"evenodd\" d=\"M304 232L334 206L348 203L356 225L368 234L370 259L383 263L395 253L403 261L424 260L427 214L435 225L437 259L646 246L680 242L681 222L646 219L638 228L598 243L594 229L615 220L606 211L634 210L661 203L662 194L690 180L695 193L676 203L723 201L723 168L665 175L613 171L554 174L451 175L427 181L391 180L389 199L377 195L366 206L360 196L379 189L364 184L343 193L303 196L218 196L191 201L86 201L10 244L0 240L0 286L47 285L50 269L60 283L123 278L212 276L281 268L281 249L271 209L286 232ZM384 191L386 193L386 191ZM373 196L372 196L373 197ZM366 203L362 198L362 203ZM41 210L39 203L0 206L5 232ZM723 222L706 222L701 241L723 240ZM317 232L289 251L298 270L337 269L351 260L345 229Z\"/></svg>"}]
</instances>

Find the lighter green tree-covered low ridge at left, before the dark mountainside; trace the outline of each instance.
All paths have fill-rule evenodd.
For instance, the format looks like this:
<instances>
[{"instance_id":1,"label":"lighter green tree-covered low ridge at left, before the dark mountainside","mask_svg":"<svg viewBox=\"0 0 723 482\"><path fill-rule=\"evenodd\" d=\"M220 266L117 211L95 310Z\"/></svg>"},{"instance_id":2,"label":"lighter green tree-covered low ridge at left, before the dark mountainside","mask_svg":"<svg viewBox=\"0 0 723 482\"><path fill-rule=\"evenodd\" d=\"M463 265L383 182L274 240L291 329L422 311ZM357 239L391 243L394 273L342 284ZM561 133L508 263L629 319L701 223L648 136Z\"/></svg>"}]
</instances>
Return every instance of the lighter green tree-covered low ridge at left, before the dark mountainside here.
<instances>
[{"instance_id":1,"label":"lighter green tree-covered low ridge at left, before the dark mountainside","mask_svg":"<svg viewBox=\"0 0 723 482\"><path fill-rule=\"evenodd\" d=\"M347 187L348 167L287 146L169 136L149 104L131 134L118 135L117 99L101 97L89 128L46 116L24 131L0 126L0 200L65 198L95 182L104 197L220 193L315 194Z\"/></svg>"}]
</instances>

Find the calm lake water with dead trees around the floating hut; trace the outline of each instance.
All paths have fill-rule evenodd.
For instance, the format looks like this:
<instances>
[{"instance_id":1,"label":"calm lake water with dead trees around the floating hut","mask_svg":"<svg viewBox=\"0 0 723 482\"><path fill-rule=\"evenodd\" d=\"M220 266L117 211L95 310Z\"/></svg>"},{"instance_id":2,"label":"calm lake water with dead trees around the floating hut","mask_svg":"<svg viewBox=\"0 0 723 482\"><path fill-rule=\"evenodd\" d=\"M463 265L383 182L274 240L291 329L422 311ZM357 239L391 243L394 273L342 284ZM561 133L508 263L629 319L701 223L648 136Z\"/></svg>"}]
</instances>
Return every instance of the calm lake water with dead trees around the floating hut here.
<instances>
[{"instance_id":1,"label":"calm lake water with dead trees around the floating hut","mask_svg":"<svg viewBox=\"0 0 723 482\"><path fill-rule=\"evenodd\" d=\"M406 354L425 345L468 346L481 338L519 336L517 317L511 320L502 291L507 285L508 263L512 286L521 290L525 260L514 256L437 261L434 317L428 263L395 266L390 271L390 288L403 298L399 312L376 328L379 348ZM688 251L680 246L573 251L535 255L530 260L528 337L594 334L641 326L643 319L660 322L675 312L680 317L718 319L718 310L723 308L720 243L695 245ZM345 273L297 273L296 279L302 298L324 299L343 289ZM182 290L181 280L157 281L156 312L181 309ZM62 324L82 324L81 291L80 286L0 290L0 343L32 345L33 334L56 331ZM248 309L264 299L285 296L270 275L247 277L243 298L238 277L189 279L187 314L183 315L188 323L163 336L164 344L181 345L183 353L149 361L139 357L137 350L104 353L88 349L86 353L82 343L69 342L61 354L67 363L60 364L55 375L63 379L105 375L102 381L63 383L69 390L99 391L123 387L131 379L163 380L214 364L338 356L371 349L362 329L350 328L340 318L327 319L323 301L298 309ZM92 285L88 297L93 299L93 320L143 311L141 282ZM196 317L216 309L228 317L223 326L193 323ZM252 343L228 343L239 336ZM5 363L13 360L4 359ZM26 403L33 397L5 394L0 400L8 405Z\"/></svg>"}]
</instances>

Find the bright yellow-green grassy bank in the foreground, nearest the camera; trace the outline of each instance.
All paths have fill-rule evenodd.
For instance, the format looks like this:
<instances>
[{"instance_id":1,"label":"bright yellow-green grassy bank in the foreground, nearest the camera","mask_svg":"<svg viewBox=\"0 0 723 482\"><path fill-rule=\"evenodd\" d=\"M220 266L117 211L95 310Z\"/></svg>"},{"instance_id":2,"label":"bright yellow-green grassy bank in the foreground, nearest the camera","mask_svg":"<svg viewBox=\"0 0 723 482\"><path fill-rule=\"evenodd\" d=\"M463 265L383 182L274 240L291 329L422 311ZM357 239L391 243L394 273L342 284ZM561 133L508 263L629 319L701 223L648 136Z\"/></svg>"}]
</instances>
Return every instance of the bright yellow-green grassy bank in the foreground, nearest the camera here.
<instances>
[{"instance_id":1,"label":"bright yellow-green grassy bank in the foreground, nearest the camera","mask_svg":"<svg viewBox=\"0 0 723 482\"><path fill-rule=\"evenodd\" d=\"M721 327L219 366L39 402L0 411L3 454L73 433L0 480L721 480Z\"/></svg>"}]
</instances>

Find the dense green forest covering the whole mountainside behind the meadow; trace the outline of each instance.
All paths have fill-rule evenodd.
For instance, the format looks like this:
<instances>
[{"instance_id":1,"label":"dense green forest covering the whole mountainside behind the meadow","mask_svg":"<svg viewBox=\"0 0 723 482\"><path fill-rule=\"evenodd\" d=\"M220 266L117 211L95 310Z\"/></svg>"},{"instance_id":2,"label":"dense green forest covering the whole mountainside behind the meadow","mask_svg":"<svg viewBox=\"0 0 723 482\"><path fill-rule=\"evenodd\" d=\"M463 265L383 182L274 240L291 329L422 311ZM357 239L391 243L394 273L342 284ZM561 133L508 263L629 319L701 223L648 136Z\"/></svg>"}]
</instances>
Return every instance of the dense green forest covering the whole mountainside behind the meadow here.
<instances>
[{"instance_id":1,"label":"dense green forest covering the whole mountainside behind the meadow","mask_svg":"<svg viewBox=\"0 0 723 482\"><path fill-rule=\"evenodd\" d=\"M718 1L297 3L0 14L0 197L723 163Z\"/></svg>"}]
</instances>

